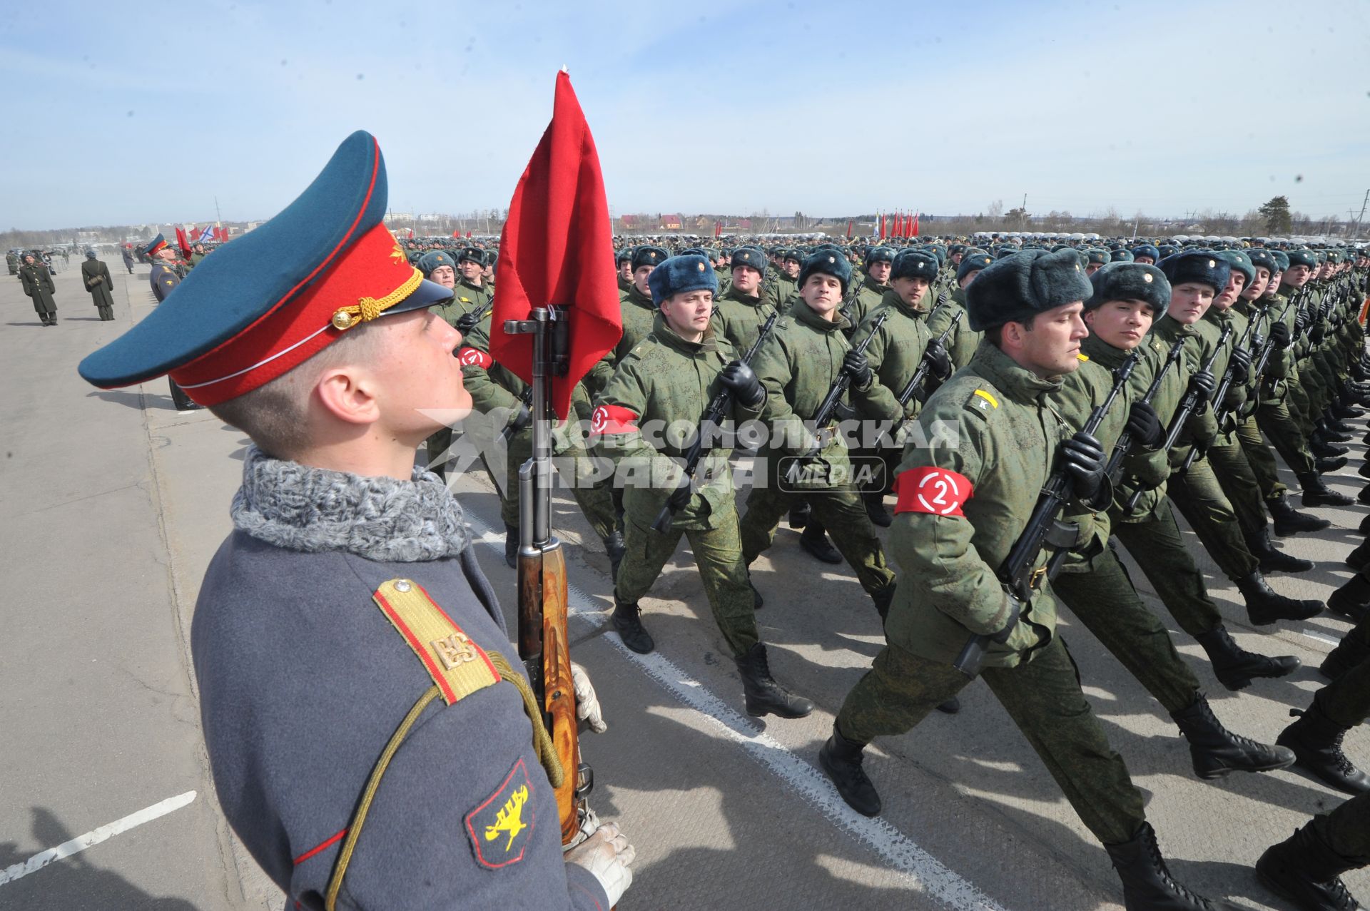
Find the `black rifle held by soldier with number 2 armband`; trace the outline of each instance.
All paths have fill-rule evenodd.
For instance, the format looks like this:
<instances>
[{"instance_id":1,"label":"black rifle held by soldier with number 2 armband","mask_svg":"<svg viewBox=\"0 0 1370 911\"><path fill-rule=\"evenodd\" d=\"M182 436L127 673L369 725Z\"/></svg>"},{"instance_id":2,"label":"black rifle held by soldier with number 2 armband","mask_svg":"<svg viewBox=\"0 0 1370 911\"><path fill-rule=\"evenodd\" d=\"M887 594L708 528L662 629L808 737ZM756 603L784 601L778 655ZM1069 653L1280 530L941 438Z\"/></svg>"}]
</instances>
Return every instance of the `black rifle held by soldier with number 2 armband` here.
<instances>
[{"instance_id":1,"label":"black rifle held by soldier with number 2 armband","mask_svg":"<svg viewBox=\"0 0 1370 911\"><path fill-rule=\"evenodd\" d=\"M1114 370L1112 388L1104 400L1089 412L1085 426L1080 429L1081 433L1093 434L1099 432L1099 425L1104 422L1118 393L1128 385L1128 378L1140 359L1141 348L1138 347L1128 355L1126 360L1118 364L1118 369ZM1014 541L1014 547L1008 551L1004 564L999 567L999 581L1023 606L1032 601L1036 589L1034 584L1038 578L1052 569L1059 569L1066 553L1070 552L1071 545L1075 542L1078 529L1058 518L1073 493L1074 481L1064 466L1058 467L1047 478L1047 484L1043 485L1041 495L1037 497L1037 506L1032 511L1032 518L1028 519L1028 526L1018 536L1018 540ZM1051 559L1047 567L1036 570L1037 555L1047 547L1054 548ZM981 663L985 659L985 648L989 647L992 640L993 637L985 633L971 636L966 647L960 649L956 660L952 662L955 669L970 678L980 674Z\"/></svg>"}]
</instances>

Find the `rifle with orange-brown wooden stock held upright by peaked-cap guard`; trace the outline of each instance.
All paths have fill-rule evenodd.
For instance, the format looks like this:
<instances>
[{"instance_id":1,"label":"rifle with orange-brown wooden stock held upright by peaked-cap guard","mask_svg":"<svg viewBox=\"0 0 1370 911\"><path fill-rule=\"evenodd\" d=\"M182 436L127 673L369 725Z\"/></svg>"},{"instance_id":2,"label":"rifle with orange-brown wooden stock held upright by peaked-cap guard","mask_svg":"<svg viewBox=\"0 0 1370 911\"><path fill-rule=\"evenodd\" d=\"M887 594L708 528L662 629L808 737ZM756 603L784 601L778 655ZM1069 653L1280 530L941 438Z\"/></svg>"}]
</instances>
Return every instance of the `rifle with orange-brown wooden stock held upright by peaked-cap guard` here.
<instances>
[{"instance_id":1,"label":"rifle with orange-brown wooden stock held upright by peaked-cap guard","mask_svg":"<svg viewBox=\"0 0 1370 911\"><path fill-rule=\"evenodd\" d=\"M519 467L518 656L560 763L562 781L552 781L560 816L562 844L571 841L588 812L595 786L581 762L571 682L570 637L566 633L566 555L552 536L552 375L569 373L570 333L560 307L537 307L527 319L508 319L504 332L533 336L533 456ZM551 775L549 775L551 778Z\"/></svg>"}]
</instances>

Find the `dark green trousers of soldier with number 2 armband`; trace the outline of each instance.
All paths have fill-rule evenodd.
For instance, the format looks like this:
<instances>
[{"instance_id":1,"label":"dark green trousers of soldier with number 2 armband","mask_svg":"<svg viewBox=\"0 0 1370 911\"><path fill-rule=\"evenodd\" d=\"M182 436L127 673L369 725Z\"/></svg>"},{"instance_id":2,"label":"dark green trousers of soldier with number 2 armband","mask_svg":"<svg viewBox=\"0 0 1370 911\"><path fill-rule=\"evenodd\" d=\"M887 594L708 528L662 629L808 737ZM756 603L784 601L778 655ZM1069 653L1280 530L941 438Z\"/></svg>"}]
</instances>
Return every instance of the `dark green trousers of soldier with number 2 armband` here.
<instances>
[{"instance_id":1,"label":"dark green trousers of soldier with number 2 armband","mask_svg":"<svg viewBox=\"0 0 1370 911\"><path fill-rule=\"evenodd\" d=\"M1122 844L1137 834L1147 821L1141 793L1080 692L1080 671L1060 636L1030 662L986 667L981 677L1089 832L1103 844ZM949 663L886 645L847 693L836 727L859 744L907 733L969 682Z\"/></svg>"}]
</instances>

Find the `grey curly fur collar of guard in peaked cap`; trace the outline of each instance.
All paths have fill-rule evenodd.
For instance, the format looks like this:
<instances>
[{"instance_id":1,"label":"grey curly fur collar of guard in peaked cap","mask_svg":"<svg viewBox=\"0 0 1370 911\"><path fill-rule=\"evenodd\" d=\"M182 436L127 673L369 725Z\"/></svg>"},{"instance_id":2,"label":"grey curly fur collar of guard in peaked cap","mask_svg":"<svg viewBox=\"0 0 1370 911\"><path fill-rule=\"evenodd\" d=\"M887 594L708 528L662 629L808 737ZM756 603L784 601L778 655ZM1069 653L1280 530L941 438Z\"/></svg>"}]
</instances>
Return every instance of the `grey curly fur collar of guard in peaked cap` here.
<instances>
[{"instance_id":1,"label":"grey curly fur collar of guard in peaked cap","mask_svg":"<svg viewBox=\"0 0 1370 911\"><path fill-rule=\"evenodd\" d=\"M233 527L289 551L347 551L416 563L456 556L471 542L456 497L434 474L410 481L314 469L248 449Z\"/></svg>"}]
</instances>

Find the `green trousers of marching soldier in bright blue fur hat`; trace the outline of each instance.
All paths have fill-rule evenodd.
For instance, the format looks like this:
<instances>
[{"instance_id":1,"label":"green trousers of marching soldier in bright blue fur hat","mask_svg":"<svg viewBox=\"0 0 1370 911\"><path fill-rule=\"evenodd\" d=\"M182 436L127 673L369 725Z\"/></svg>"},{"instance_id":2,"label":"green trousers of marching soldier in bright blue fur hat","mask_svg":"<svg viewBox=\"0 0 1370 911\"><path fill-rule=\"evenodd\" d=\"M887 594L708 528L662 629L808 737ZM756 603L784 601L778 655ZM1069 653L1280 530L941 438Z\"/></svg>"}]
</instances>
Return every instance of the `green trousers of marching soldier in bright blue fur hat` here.
<instances>
[{"instance_id":1,"label":"green trousers of marching soldier in bright blue fur hat","mask_svg":"<svg viewBox=\"0 0 1370 911\"><path fill-rule=\"evenodd\" d=\"M618 567L615 590L619 600L636 603L647 595L652 582L671 559L681 536L695 551L699 577L704 582L704 596L714 611L714 622L727 640L734 658L741 658L760 641L756 632L756 612L752 610L752 588L743 563L743 541L737 529L737 507L727 500L725 515L717 529L670 529L664 534L653 532L651 523L638 523L633 516L623 519L623 562Z\"/></svg>"}]
</instances>

